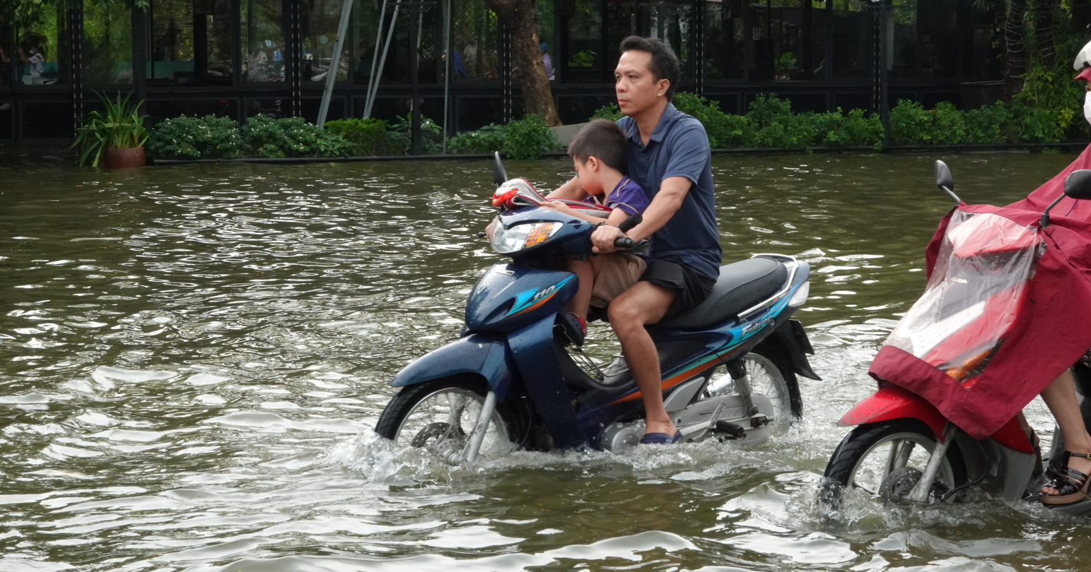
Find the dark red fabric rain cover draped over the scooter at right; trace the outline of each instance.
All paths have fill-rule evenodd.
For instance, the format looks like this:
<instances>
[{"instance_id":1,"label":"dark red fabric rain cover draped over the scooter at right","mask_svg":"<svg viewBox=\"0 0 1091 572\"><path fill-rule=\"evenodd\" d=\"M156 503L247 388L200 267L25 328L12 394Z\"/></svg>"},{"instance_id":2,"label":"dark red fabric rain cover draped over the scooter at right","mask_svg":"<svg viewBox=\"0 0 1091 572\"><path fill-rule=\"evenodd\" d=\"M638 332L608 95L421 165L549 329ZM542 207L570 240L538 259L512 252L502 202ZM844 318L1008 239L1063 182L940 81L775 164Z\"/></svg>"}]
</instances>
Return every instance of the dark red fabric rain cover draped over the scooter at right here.
<instances>
[{"instance_id":1,"label":"dark red fabric rain cover draped over the scooter at right","mask_svg":"<svg viewBox=\"0 0 1091 572\"><path fill-rule=\"evenodd\" d=\"M1091 147L1022 200L957 209L1036 227L1045 207L1064 194L1065 178L1077 169L1091 169ZM939 222L925 251L928 277L954 212ZM894 345L879 350L868 374L879 385L894 384L923 397L974 438L999 429L1091 348L1091 200L1064 198L1051 210L1042 239L1046 248L1016 321L973 385L964 387Z\"/></svg>"}]
</instances>

